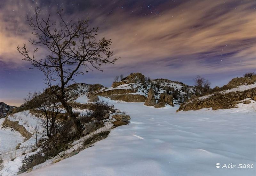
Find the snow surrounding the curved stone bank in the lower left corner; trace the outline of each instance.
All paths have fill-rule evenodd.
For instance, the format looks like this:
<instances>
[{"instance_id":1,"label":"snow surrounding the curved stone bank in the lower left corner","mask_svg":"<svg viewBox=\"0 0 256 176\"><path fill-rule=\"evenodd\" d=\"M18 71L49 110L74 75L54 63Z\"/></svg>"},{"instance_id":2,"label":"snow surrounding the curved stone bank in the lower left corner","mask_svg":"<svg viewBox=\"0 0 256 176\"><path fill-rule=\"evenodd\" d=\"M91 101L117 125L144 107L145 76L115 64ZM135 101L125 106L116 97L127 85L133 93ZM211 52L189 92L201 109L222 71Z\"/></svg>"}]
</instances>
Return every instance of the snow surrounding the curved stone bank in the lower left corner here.
<instances>
[{"instance_id":1,"label":"snow surrounding the curved stone bank in the lower left corner","mask_svg":"<svg viewBox=\"0 0 256 176\"><path fill-rule=\"evenodd\" d=\"M22 160L24 158L24 153L26 155L31 155L35 152L31 152L32 148L36 144L37 140L42 137L42 127L40 125L40 119L29 113L29 110L15 113L8 116L11 121L18 121L20 125L23 125L26 130L28 130L32 135L28 140L22 137L21 134L10 128L1 128L0 131L0 154L3 160L4 168L0 170L0 175L16 175L19 166L22 165ZM4 119L0 119L2 124ZM16 146L21 143L19 149ZM11 161L10 154L15 158Z\"/></svg>"}]
</instances>

